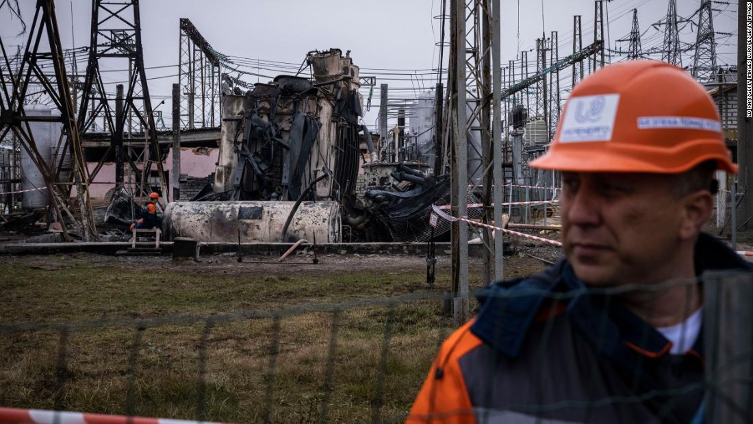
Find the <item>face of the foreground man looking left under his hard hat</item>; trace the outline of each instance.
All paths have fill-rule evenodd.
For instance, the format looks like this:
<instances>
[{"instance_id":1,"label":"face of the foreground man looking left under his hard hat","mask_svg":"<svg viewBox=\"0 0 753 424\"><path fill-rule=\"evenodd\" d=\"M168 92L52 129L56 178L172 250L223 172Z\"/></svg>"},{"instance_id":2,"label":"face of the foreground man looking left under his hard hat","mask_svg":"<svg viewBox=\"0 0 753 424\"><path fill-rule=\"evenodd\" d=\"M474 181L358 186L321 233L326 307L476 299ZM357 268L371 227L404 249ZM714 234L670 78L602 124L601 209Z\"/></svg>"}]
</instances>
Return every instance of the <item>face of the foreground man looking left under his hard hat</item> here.
<instances>
[{"instance_id":1,"label":"face of the foreground man looking left under his hard hat","mask_svg":"<svg viewBox=\"0 0 753 424\"><path fill-rule=\"evenodd\" d=\"M589 285L651 282L680 244L681 202L666 175L562 172L562 238Z\"/></svg>"}]
</instances>

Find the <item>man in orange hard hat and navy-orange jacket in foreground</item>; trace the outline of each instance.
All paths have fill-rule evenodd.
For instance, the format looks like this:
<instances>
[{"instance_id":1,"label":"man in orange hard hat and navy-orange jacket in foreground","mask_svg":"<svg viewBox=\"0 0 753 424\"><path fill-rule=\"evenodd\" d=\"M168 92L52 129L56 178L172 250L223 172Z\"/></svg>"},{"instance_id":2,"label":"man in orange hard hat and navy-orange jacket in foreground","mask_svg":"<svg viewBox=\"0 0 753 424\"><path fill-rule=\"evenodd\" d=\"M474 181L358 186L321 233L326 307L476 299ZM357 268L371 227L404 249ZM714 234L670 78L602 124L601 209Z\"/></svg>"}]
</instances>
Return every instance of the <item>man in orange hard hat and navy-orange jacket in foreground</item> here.
<instances>
[{"instance_id":1,"label":"man in orange hard hat and navy-orange jacket in foreground","mask_svg":"<svg viewBox=\"0 0 753 424\"><path fill-rule=\"evenodd\" d=\"M477 294L407 422L703 422L703 273L750 272L701 232L737 166L684 70L636 60L572 91L546 154L565 258Z\"/></svg>"}]
</instances>

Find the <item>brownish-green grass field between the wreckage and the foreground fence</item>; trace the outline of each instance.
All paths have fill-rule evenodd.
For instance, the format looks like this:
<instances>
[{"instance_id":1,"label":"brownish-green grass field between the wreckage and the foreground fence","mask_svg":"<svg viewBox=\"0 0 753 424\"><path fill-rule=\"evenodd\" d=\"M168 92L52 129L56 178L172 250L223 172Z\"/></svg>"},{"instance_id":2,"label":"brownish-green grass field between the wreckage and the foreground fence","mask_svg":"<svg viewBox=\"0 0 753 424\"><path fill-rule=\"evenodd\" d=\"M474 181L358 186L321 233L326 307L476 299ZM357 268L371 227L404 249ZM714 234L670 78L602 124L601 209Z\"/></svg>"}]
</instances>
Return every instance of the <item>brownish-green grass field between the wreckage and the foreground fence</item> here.
<instances>
[{"instance_id":1,"label":"brownish-green grass field between the wreckage and the foreground fence","mask_svg":"<svg viewBox=\"0 0 753 424\"><path fill-rule=\"evenodd\" d=\"M316 266L0 258L2 324L78 325L0 333L0 406L224 422L400 420L451 331L437 300L449 286L447 261L432 287L425 261L412 257L325 257ZM514 276L543 265L514 258L506 267ZM406 295L434 299L368 301ZM350 306L324 308L337 304ZM302 305L320 307L290 309ZM287 312L273 318L279 310ZM201 319L148 321L185 315Z\"/></svg>"}]
</instances>

